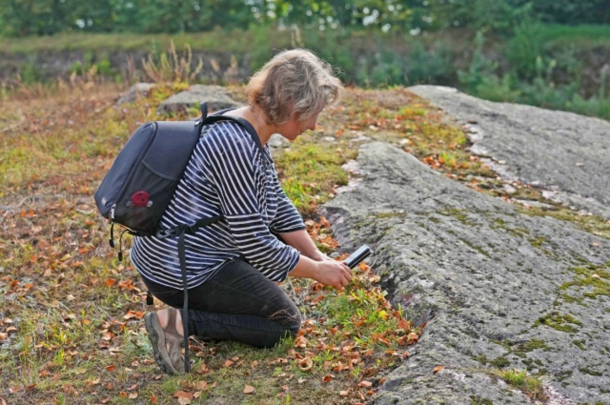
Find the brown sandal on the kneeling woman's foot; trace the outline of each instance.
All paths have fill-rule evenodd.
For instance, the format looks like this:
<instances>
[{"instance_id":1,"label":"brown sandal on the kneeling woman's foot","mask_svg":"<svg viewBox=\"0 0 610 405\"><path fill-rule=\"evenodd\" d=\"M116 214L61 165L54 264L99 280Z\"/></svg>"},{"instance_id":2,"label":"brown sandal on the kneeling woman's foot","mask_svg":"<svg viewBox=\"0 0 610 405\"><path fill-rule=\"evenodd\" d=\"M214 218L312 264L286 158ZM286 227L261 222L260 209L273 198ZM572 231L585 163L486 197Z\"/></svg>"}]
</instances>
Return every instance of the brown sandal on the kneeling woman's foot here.
<instances>
[{"instance_id":1,"label":"brown sandal on the kneeling woman's foot","mask_svg":"<svg viewBox=\"0 0 610 405\"><path fill-rule=\"evenodd\" d=\"M184 337L176 330L176 312L175 308L168 308L168 323L165 329L161 327L156 312L149 312L144 317L154 359L161 370L170 375L184 372L184 358L182 357Z\"/></svg>"}]
</instances>

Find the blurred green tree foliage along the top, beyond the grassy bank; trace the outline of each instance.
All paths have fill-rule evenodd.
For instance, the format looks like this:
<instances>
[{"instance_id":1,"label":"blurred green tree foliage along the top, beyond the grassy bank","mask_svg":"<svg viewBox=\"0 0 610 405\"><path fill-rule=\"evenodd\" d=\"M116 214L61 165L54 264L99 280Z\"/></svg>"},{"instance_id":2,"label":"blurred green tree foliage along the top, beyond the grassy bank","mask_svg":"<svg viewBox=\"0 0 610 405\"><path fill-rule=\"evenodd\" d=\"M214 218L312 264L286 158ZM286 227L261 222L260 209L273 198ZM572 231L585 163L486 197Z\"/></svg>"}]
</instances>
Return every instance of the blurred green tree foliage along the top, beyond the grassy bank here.
<instances>
[{"instance_id":1,"label":"blurred green tree foliage along the top, beyond the grassy bank","mask_svg":"<svg viewBox=\"0 0 610 405\"><path fill-rule=\"evenodd\" d=\"M253 24L509 32L524 18L608 24L608 0L0 0L0 35L201 32Z\"/></svg>"}]
</instances>

